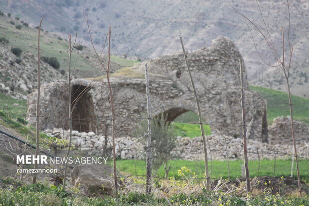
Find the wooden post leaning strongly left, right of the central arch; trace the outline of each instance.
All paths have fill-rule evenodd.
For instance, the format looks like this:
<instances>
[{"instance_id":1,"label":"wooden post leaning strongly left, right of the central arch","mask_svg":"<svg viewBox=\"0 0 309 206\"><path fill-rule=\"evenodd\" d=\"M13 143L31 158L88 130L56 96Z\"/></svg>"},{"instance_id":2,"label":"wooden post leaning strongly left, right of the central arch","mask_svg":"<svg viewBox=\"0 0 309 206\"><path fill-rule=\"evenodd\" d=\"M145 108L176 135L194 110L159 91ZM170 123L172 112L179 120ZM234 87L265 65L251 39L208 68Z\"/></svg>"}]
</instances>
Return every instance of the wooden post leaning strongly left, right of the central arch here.
<instances>
[{"instance_id":1,"label":"wooden post leaning strongly left, right of the central arch","mask_svg":"<svg viewBox=\"0 0 309 206\"><path fill-rule=\"evenodd\" d=\"M206 173L206 191L210 191L210 177L209 177L209 172L208 172L207 146L206 146L206 138L205 138L203 123L202 123L201 111L200 111L200 108L199 108L199 100L198 100L198 97L197 97L195 85L194 85L193 78L192 78L192 75L191 75L191 72L190 72L189 64L188 64L188 61L187 61L187 55L185 53L185 49L184 49L184 46L183 46L183 42L182 42L181 36L180 36L180 43L181 43L181 47L182 47L182 51L183 51L184 61L185 61L187 70L189 72L189 76L190 76L192 87L193 87L193 92L194 92L194 97L195 97L195 102L196 102L196 107L197 107L197 112L198 112L199 125L200 125L201 133L202 133L203 147L204 147L204 161L205 161L205 173Z\"/></svg>"}]
</instances>

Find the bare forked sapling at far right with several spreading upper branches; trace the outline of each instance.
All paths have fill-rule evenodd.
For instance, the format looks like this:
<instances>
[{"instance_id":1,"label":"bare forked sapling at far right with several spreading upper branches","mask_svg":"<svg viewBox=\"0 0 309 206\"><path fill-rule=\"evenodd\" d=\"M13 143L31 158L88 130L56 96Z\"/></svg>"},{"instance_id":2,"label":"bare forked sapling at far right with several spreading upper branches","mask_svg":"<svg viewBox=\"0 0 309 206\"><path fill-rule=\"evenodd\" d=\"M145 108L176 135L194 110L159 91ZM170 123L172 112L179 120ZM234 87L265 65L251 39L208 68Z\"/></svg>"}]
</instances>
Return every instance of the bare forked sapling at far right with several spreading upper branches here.
<instances>
[{"instance_id":1,"label":"bare forked sapling at far right with several spreading upper branches","mask_svg":"<svg viewBox=\"0 0 309 206\"><path fill-rule=\"evenodd\" d=\"M291 69L291 62L292 62L292 56L293 56L293 43L291 43L290 41L290 25L291 25L291 15L290 15L290 5L289 5L289 0L287 0L287 13L288 13L288 35L287 37L285 36L284 33L284 29L283 27L281 27L281 34L282 34L282 53L280 51L278 51L275 47L275 44L273 42L273 39L270 35L268 26L266 25L262 10L260 8L260 5L258 3L258 1L256 0L257 6L259 8L260 11L260 15L261 18L263 20L263 24L264 24L264 29L266 30L266 32L262 31L264 29L260 28L258 26L258 24L256 23L255 20L252 20L250 18L248 18L245 14L243 14L242 12L240 12L239 10L237 10L234 7L228 6L231 10L235 11L236 13L238 13L239 15L241 15L245 20L247 20L264 38L268 49L270 50L270 52L272 53L272 56L274 57L276 64L272 64L272 63L268 63L266 62L266 60L261 56L260 52L258 51L255 41L254 41L254 36L252 34L251 28L249 27L248 24L248 28L249 31L251 33L251 37L254 43L254 47L255 50L257 51L258 55L260 56L260 58L262 59L262 61L267 64L270 67L276 67L279 68L280 74L282 75L283 73L283 78L285 80L285 84L286 84L286 89L288 92L288 98L289 98L289 108L290 108L290 116L291 116L291 133L292 133L292 143L293 143L293 148L294 148L294 156L295 156L295 162L296 162L296 169L297 169L297 178L298 178L298 187L299 187L299 193L300 196L302 197L302 187L301 187L301 178L300 178L300 170L299 170L299 161L298 161L298 155L297 155L297 148L296 148L296 138L295 138L295 127L294 127L294 117L293 117L293 103L292 103L292 89L291 89L291 85L290 85L290 77L291 77L291 73L290 73L290 69ZM287 41L285 41L285 39L287 38ZM288 48L286 48L286 44L288 44ZM286 51L287 50L287 51Z\"/></svg>"}]
</instances>

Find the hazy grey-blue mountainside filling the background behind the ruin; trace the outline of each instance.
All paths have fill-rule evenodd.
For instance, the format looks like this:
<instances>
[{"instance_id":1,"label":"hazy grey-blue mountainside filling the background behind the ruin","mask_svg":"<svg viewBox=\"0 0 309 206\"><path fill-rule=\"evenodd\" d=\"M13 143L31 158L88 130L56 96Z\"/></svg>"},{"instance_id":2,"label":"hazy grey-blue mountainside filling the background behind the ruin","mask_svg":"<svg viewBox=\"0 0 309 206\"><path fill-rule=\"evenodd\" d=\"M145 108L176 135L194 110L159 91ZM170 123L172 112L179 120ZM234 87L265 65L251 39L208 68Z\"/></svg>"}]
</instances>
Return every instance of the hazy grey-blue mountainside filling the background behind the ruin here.
<instances>
[{"instance_id":1,"label":"hazy grey-blue mountainside filling the background behind the ruin","mask_svg":"<svg viewBox=\"0 0 309 206\"><path fill-rule=\"evenodd\" d=\"M0 0L0 8L33 23L45 17L43 28L66 33L79 33L86 42L89 34L84 14L89 17L94 42L103 44L107 26L112 25L114 54L154 58L180 50L178 36L185 46L195 50L210 46L218 35L235 41L244 56L248 78L255 85L285 90L278 71L271 71L258 57L244 20L227 8L230 5L262 26L254 0ZM276 47L281 51L281 26L288 28L285 0L260 0L260 7ZM293 73L295 94L304 95L309 86L309 3L290 1L291 41L294 43ZM265 29L264 29L265 30ZM261 36L253 30L257 48L268 63L274 64Z\"/></svg>"}]
</instances>

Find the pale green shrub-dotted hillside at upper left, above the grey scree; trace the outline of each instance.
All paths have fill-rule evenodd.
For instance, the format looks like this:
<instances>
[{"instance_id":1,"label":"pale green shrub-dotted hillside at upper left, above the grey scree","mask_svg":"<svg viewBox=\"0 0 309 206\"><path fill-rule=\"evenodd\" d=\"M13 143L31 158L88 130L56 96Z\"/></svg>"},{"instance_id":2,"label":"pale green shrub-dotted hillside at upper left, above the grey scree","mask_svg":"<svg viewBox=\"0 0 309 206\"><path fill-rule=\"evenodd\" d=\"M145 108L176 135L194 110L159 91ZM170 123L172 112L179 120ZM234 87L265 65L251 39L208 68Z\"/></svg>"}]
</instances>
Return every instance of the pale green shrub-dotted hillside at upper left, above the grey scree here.
<instances>
[{"instance_id":1,"label":"pale green shrub-dotted hillside at upper left, above the grey scree","mask_svg":"<svg viewBox=\"0 0 309 206\"><path fill-rule=\"evenodd\" d=\"M16 26L20 25L20 29ZM43 20L44 25L44 20ZM21 19L17 20L13 17L8 17L5 14L0 16L0 37L4 37L9 41L12 47L19 47L25 51L29 51L36 56L37 54L37 35L38 29L31 28ZM60 63L60 69L67 70L68 68L68 40L61 38L59 35L49 33L47 30L42 30L40 35L41 56L55 57ZM74 42L74 35L72 37ZM81 38L77 38L76 44L83 43ZM100 66L96 63L97 59L93 49L83 47L82 50L74 50L72 53L73 67L75 74L79 77L92 77L97 74ZM117 56L111 57L111 68L113 71L122 67L133 66L138 61L122 59Z\"/></svg>"}]
</instances>

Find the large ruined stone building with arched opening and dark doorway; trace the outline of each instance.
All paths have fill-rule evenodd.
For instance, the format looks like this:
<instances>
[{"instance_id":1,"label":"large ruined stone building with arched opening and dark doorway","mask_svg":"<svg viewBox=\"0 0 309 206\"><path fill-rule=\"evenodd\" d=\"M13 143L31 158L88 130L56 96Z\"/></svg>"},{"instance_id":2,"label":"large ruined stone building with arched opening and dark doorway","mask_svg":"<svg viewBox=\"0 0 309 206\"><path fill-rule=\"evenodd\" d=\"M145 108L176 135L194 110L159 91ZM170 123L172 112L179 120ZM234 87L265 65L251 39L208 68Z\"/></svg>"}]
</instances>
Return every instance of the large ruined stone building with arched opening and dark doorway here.
<instances>
[{"instance_id":1,"label":"large ruined stone building with arched opening and dark doorway","mask_svg":"<svg viewBox=\"0 0 309 206\"><path fill-rule=\"evenodd\" d=\"M234 43L218 37L212 46L187 53L188 62L199 96L205 124L212 133L241 137L241 106L239 59L241 54ZM144 72L144 64L132 68ZM150 72L150 98L153 115L167 115L167 121L187 112L197 112L191 82L186 71L183 54L175 52L148 61ZM251 139L268 141L266 103L262 96L250 91L246 72L244 74L246 115L250 125ZM116 135L132 136L135 125L145 118L147 110L145 80L112 78L116 109ZM112 118L106 81L90 82L75 80L72 86L72 101L81 93L73 109L73 129L82 132L103 132ZM42 86L41 129L68 129L67 83L57 82ZM28 96L27 121L35 124L36 93Z\"/></svg>"}]
</instances>

